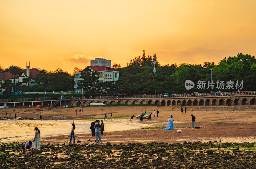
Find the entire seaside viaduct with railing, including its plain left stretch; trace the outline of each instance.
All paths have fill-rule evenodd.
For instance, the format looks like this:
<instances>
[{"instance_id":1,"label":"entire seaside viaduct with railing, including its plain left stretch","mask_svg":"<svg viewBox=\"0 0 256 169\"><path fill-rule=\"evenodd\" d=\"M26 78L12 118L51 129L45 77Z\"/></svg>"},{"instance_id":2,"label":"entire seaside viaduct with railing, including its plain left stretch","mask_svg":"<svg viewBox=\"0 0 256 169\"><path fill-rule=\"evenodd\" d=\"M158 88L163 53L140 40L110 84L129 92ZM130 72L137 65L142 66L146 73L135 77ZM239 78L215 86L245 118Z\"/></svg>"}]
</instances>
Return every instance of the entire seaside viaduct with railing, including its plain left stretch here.
<instances>
[{"instance_id":1,"label":"entire seaside viaduct with railing, including its plain left stretch","mask_svg":"<svg viewBox=\"0 0 256 169\"><path fill-rule=\"evenodd\" d=\"M105 104L156 104L162 106L242 106L256 105L256 91L247 92L222 92L222 93L194 93L177 95L133 95L133 96L100 96L100 97L72 97L72 98L25 98L3 99L0 106L18 105L90 105L91 103ZM15 105L16 104L16 105Z\"/></svg>"}]
</instances>

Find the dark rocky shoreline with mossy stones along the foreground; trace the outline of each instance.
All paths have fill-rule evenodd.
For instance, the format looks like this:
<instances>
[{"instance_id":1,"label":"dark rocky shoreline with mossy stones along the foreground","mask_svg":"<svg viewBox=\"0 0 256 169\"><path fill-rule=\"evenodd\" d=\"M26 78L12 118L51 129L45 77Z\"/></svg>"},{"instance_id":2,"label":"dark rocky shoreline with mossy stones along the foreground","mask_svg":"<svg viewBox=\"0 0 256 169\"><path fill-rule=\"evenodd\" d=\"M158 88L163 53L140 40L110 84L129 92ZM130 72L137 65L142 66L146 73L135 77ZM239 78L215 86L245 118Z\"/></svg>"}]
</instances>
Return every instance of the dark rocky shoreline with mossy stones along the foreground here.
<instances>
[{"instance_id":1,"label":"dark rocky shoreline with mossy stones along the foreground","mask_svg":"<svg viewBox=\"0 0 256 169\"><path fill-rule=\"evenodd\" d=\"M256 143L0 144L0 168L256 168Z\"/></svg>"}]
</instances>

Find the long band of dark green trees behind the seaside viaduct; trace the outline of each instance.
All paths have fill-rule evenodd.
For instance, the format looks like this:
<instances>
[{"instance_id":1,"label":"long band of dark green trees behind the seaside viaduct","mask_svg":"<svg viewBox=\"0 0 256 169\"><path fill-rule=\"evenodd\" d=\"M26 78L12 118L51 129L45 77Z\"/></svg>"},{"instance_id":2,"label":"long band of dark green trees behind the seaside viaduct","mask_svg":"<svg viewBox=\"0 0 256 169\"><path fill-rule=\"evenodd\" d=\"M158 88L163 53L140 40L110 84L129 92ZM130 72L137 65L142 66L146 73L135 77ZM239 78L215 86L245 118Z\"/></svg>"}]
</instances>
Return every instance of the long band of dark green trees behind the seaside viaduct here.
<instances>
[{"instance_id":1,"label":"long band of dark green trees behind the seaside viaduct","mask_svg":"<svg viewBox=\"0 0 256 169\"><path fill-rule=\"evenodd\" d=\"M135 57L125 67L114 63L112 68L120 72L119 80L116 82L97 83L96 72L88 69L88 67L85 69L74 68L74 74L83 70L81 77L84 80L80 82L79 86L85 89L86 96L155 94L155 90L156 94L216 92L218 90L221 90L221 92L234 92L238 89L242 89L242 91L256 90L254 85L256 80L256 59L254 56L242 53L233 57L225 57L217 65L214 62L207 61L202 64L160 65L156 58L156 73L153 73L153 59L151 55L145 56L145 51L143 50L142 57ZM3 70L0 68L0 71L12 72L12 69ZM212 86L208 86L208 82L211 83L211 79L213 80ZM28 83L31 77L24 80ZM186 90L186 80L193 81L195 86ZM243 84L241 84L242 82ZM7 88L9 84L10 87L15 88L15 92L74 91L74 75L61 69L54 71L40 70L40 74L33 78L33 83L35 84L33 86L21 86L8 82L6 86L2 84L2 88Z\"/></svg>"}]
</instances>

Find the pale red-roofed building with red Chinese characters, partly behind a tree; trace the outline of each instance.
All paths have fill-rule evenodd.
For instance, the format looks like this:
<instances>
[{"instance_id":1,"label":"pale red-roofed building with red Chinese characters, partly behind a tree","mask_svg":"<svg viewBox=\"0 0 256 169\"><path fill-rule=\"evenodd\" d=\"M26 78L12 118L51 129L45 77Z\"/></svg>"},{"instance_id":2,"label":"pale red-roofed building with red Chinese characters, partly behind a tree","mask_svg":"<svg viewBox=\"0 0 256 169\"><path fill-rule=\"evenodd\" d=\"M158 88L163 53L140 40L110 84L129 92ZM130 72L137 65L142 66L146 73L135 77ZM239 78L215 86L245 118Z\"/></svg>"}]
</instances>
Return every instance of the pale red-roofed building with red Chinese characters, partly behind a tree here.
<instances>
[{"instance_id":1,"label":"pale red-roofed building with red Chinese characters, partly behind a tree","mask_svg":"<svg viewBox=\"0 0 256 169\"><path fill-rule=\"evenodd\" d=\"M111 69L110 67L106 66L89 66L90 69L94 70L97 73L98 81L99 82L108 82L108 81L118 81L119 79L119 71ZM83 89L79 88L79 81L82 80L80 78L83 71L76 72L75 74L75 92L82 92Z\"/></svg>"}]
</instances>

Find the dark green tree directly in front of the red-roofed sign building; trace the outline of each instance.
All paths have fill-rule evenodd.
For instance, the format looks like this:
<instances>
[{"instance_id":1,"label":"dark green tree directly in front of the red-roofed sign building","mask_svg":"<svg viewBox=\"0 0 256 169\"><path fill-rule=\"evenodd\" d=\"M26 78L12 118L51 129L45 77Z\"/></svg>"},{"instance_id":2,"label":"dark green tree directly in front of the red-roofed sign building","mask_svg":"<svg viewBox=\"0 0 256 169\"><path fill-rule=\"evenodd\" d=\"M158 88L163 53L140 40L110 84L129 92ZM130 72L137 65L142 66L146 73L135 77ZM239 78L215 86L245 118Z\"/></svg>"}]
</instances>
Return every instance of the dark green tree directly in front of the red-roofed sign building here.
<instances>
[{"instance_id":1,"label":"dark green tree directly in front of the red-roofed sign building","mask_svg":"<svg viewBox=\"0 0 256 169\"><path fill-rule=\"evenodd\" d=\"M78 86L88 91L98 82L99 77L98 74L88 66L83 70L80 78L82 78L82 80L79 82Z\"/></svg>"}]
</instances>

